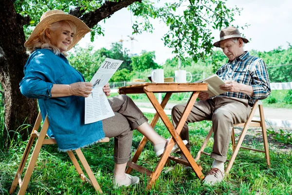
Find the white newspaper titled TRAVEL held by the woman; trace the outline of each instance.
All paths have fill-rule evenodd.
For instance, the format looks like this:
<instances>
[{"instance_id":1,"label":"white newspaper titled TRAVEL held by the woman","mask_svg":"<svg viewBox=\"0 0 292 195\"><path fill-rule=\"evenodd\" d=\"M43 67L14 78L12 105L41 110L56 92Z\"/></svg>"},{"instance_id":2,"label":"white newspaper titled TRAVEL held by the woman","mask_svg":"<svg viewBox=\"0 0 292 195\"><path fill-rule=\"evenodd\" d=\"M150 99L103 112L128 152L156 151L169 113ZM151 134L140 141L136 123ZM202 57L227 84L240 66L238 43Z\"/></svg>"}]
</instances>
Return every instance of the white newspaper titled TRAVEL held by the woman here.
<instances>
[{"instance_id":1,"label":"white newspaper titled TRAVEL held by the woman","mask_svg":"<svg viewBox=\"0 0 292 195\"><path fill-rule=\"evenodd\" d=\"M114 116L102 88L109 82L122 62L122 60L106 58L91 79L93 89L91 95L85 98L85 124Z\"/></svg>"}]
</instances>

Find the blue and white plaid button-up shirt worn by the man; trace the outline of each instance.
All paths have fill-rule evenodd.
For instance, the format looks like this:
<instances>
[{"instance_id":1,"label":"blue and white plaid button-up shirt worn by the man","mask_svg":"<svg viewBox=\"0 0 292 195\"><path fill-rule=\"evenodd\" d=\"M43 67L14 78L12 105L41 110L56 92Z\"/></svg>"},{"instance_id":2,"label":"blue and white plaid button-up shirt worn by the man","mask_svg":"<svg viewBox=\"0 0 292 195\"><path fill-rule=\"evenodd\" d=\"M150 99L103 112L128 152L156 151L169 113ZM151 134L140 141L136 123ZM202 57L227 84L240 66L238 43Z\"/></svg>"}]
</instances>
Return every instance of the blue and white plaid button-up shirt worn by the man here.
<instances>
[{"instance_id":1,"label":"blue and white plaid button-up shirt worn by the man","mask_svg":"<svg viewBox=\"0 0 292 195\"><path fill-rule=\"evenodd\" d=\"M221 66L216 73L223 80L234 80L238 83L251 85L254 89L254 96L250 97L240 92L226 92L222 96L248 99L253 105L256 99L267 98L271 93L268 71L263 59L251 56L244 52L241 56L228 61Z\"/></svg>"}]
</instances>

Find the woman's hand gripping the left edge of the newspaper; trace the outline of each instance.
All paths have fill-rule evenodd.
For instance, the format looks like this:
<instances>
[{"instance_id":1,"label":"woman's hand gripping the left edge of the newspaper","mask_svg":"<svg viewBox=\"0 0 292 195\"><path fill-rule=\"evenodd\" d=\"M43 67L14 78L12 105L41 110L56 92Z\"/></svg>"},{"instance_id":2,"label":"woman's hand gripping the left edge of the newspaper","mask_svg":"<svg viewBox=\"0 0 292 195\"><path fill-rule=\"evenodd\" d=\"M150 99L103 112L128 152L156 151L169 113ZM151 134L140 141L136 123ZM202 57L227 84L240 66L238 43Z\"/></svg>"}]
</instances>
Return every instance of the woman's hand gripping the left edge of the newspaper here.
<instances>
[{"instance_id":1,"label":"woman's hand gripping the left edge of the newspaper","mask_svg":"<svg viewBox=\"0 0 292 195\"><path fill-rule=\"evenodd\" d=\"M71 96L81 96L87 98L91 94L93 85L91 82L74 82L69 86Z\"/></svg>"}]
</instances>

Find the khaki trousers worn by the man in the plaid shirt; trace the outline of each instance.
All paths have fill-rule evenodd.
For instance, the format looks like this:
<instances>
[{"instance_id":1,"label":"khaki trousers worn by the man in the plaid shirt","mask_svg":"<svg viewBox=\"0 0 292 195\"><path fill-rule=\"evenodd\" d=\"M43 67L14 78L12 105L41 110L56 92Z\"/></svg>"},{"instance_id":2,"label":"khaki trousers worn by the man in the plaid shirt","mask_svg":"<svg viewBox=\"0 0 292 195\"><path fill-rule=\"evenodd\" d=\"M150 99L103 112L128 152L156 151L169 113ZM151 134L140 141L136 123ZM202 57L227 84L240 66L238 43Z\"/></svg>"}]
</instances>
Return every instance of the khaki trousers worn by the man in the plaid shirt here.
<instances>
[{"instance_id":1,"label":"khaki trousers worn by the man in the plaid shirt","mask_svg":"<svg viewBox=\"0 0 292 195\"><path fill-rule=\"evenodd\" d=\"M173 107L171 112L173 126L176 127L183 114L186 104ZM204 101L196 101L180 134L181 138L189 141L189 122L212 120L214 144L211 157L225 162L233 124L246 122L251 107L247 99L217 96ZM189 143L186 145L190 150Z\"/></svg>"}]
</instances>

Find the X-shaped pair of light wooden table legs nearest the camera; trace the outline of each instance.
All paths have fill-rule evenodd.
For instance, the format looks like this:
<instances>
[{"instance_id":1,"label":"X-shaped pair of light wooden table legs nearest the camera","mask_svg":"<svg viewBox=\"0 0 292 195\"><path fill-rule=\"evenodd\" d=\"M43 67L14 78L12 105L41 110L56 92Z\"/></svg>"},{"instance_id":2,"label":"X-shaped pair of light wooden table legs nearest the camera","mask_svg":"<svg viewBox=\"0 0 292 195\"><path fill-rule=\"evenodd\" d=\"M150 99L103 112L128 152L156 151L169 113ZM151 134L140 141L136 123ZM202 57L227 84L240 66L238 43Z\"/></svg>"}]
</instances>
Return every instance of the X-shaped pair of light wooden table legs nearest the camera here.
<instances>
[{"instance_id":1,"label":"X-shaped pair of light wooden table legs nearest the camera","mask_svg":"<svg viewBox=\"0 0 292 195\"><path fill-rule=\"evenodd\" d=\"M200 167L198 166L198 164L196 163L194 158L191 156L190 152L188 151L186 146L183 144L183 140L179 136L179 134L181 133L181 131L183 129L183 124L186 121L186 118L188 117L188 115L192 109L192 106L194 105L196 98L199 95L199 92L193 92L191 98L189 99L189 101L186 105L186 108L183 111L183 115L179 121L177 129L174 129L172 123L170 122L170 120L166 116L164 109L160 106L160 104L157 101L154 94L152 92L149 92L149 91L145 91L145 93L146 93L146 96L149 98L150 102L152 103L153 107L155 108L156 112L160 115L161 119L163 120L165 127L168 129L169 133L172 136L172 139L168 143L166 149L164 150L164 153L163 153L160 161L158 162L158 165L156 166L155 171L150 176L149 185L147 186L147 189L151 188L151 186L154 184L155 180L161 174L161 171L164 167L164 164L165 164L168 156L170 155L170 152L171 152L172 147L174 146L175 142L180 147L181 152L183 152L183 155L186 157L187 161L190 163L190 165L193 168L193 170L195 171L196 175L199 178L203 179L204 176L201 172Z\"/></svg>"}]
</instances>

